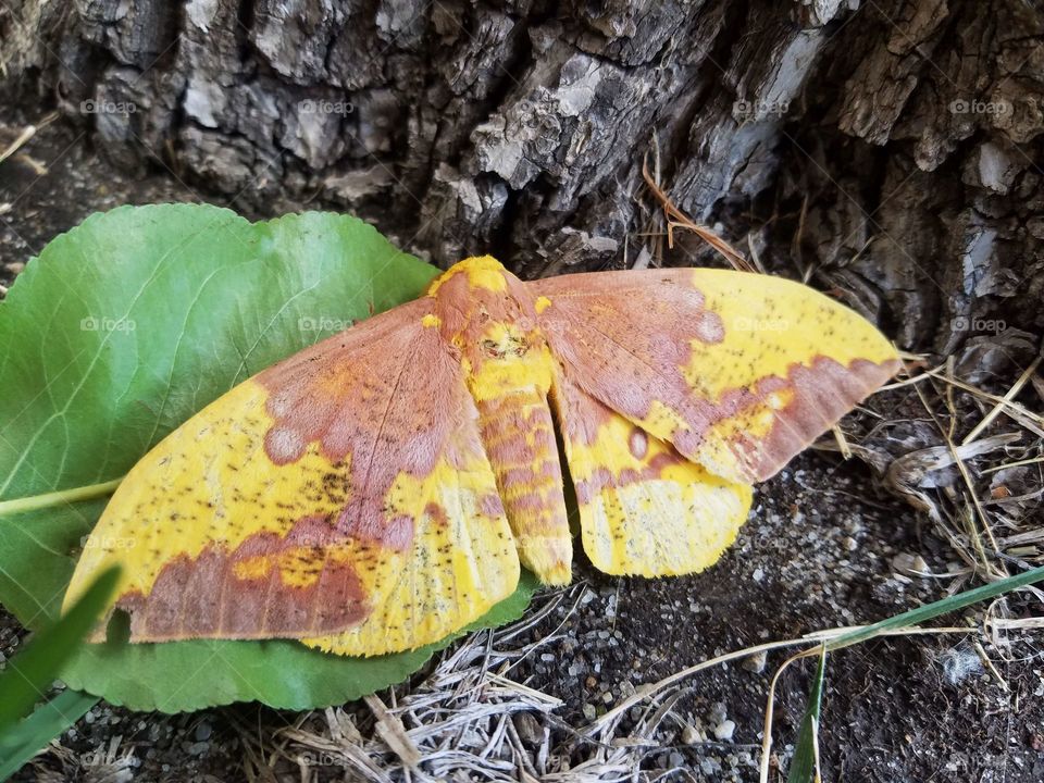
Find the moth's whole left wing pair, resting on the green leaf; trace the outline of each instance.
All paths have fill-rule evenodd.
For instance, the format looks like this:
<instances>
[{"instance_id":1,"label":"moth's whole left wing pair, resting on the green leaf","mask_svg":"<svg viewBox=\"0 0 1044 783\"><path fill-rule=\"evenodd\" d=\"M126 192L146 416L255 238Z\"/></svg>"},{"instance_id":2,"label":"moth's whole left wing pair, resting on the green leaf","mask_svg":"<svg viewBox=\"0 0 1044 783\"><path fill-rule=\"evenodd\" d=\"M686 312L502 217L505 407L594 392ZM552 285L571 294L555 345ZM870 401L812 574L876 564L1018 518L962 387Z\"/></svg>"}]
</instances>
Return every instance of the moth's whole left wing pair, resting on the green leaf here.
<instances>
[{"instance_id":1,"label":"moth's whole left wing pair, resting on the green leaf","mask_svg":"<svg viewBox=\"0 0 1044 783\"><path fill-rule=\"evenodd\" d=\"M113 495L66 605L119 563L132 641L308 637L378 655L510 595L518 555L430 302L290 357L171 433Z\"/></svg>"}]
</instances>

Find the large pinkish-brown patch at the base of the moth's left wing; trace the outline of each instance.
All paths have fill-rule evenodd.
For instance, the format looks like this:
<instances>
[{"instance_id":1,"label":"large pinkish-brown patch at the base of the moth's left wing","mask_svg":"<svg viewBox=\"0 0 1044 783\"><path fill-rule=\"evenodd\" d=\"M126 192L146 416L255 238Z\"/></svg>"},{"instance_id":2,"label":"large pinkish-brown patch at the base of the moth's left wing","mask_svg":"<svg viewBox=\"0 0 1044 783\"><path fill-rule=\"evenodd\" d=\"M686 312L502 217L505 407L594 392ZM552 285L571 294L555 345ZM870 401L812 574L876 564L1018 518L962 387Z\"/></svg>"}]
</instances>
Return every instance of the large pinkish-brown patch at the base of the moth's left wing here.
<instances>
[{"instance_id":1,"label":"large pinkish-brown patch at the base of the moth's left wing","mask_svg":"<svg viewBox=\"0 0 1044 783\"><path fill-rule=\"evenodd\" d=\"M430 299L410 302L257 376L271 393L266 407L275 424L265 451L272 461L293 462L310 443L334 465L350 457L336 487L348 500L334 526L396 550L412 540L411 518L386 513L398 474L424 476L440 458L459 467L482 455L476 430L450 438L461 422L477 421L477 412L438 331L421 324L430 310ZM331 488L315 487L324 497Z\"/></svg>"}]
</instances>

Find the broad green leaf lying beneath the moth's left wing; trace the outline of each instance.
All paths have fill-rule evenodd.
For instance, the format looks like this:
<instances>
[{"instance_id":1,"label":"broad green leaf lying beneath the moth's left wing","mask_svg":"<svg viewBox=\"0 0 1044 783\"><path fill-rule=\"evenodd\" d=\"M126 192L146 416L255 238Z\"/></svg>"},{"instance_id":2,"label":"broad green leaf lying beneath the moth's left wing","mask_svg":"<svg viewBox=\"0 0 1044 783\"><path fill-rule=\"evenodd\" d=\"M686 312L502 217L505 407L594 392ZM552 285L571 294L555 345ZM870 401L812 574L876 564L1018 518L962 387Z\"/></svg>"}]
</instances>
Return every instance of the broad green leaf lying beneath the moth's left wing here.
<instances>
[{"instance_id":1,"label":"broad green leaf lying beneath the moth's left wing","mask_svg":"<svg viewBox=\"0 0 1044 783\"><path fill-rule=\"evenodd\" d=\"M108 482L235 384L436 273L328 213L251 224L215 207L124 207L51 241L0 303L0 602L29 627L53 620ZM518 617L531 587L484 621ZM306 709L398 682L432 650L110 642L84 646L63 679L133 709Z\"/></svg>"}]
</instances>

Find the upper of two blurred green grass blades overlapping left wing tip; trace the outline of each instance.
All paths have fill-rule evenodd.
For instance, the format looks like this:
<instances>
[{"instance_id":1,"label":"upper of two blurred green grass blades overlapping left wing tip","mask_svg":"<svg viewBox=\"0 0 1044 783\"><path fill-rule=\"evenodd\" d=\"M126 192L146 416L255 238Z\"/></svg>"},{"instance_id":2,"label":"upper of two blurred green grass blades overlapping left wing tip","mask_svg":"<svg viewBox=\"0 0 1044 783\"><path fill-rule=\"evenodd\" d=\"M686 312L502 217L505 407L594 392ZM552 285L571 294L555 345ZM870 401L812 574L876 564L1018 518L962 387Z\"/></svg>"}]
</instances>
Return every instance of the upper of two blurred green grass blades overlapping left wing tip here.
<instances>
[{"instance_id":1,"label":"upper of two blurred green grass blades overlapping left wing tip","mask_svg":"<svg viewBox=\"0 0 1044 783\"><path fill-rule=\"evenodd\" d=\"M98 621L116 587L119 569L99 574L83 597L53 625L37 633L0 675L0 735L33 711Z\"/></svg>"}]
</instances>

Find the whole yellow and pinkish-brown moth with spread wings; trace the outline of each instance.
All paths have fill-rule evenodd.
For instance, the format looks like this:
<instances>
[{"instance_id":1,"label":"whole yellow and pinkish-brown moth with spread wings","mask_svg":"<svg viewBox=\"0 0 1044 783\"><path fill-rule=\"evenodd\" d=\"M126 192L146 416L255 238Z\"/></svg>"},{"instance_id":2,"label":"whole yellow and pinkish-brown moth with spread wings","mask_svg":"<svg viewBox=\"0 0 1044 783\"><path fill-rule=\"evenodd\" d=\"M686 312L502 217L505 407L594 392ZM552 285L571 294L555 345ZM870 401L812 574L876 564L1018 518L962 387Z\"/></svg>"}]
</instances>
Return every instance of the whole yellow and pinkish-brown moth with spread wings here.
<instances>
[{"instance_id":1,"label":"whole yellow and pinkish-brown moth with spread wings","mask_svg":"<svg viewBox=\"0 0 1044 783\"><path fill-rule=\"evenodd\" d=\"M596 568L700 571L751 484L898 366L868 321L782 278L522 282L470 258L164 438L116 489L65 602L119 563L112 609L133 642L419 647L510 595L520 564L570 581L560 452Z\"/></svg>"}]
</instances>

